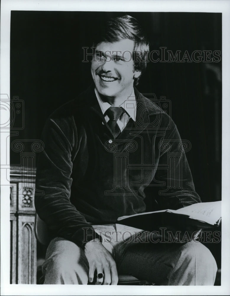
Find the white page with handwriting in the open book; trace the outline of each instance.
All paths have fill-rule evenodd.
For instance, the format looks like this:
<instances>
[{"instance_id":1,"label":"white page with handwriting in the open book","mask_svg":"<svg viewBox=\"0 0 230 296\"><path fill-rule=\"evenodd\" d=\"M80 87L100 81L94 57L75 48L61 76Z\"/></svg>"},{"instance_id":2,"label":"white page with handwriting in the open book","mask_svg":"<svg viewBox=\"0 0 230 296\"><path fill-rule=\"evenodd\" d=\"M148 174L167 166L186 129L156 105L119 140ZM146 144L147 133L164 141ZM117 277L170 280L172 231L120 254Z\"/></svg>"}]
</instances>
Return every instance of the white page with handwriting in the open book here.
<instances>
[{"instance_id":1,"label":"white page with handwriting in the open book","mask_svg":"<svg viewBox=\"0 0 230 296\"><path fill-rule=\"evenodd\" d=\"M200 202L171 212L189 215L190 218L214 225L221 218L221 201Z\"/></svg>"}]
</instances>

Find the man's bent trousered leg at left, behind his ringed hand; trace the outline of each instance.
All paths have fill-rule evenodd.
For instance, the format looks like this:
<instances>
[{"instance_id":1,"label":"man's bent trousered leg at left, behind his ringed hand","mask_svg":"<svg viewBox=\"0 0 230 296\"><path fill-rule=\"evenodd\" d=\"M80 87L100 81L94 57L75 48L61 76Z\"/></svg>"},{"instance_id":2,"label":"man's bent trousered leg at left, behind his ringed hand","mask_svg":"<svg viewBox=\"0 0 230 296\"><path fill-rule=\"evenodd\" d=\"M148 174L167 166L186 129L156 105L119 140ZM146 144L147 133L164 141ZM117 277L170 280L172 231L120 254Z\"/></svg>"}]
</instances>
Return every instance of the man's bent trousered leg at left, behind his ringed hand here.
<instances>
[{"instance_id":1,"label":"man's bent trousered leg at left, behind his ringed hand","mask_svg":"<svg viewBox=\"0 0 230 296\"><path fill-rule=\"evenodd\" d=\"M44 284L87 284L88 260L85 252L73 242L56 237L46 251L42 266Z\"/></svg>"}]
</instances>

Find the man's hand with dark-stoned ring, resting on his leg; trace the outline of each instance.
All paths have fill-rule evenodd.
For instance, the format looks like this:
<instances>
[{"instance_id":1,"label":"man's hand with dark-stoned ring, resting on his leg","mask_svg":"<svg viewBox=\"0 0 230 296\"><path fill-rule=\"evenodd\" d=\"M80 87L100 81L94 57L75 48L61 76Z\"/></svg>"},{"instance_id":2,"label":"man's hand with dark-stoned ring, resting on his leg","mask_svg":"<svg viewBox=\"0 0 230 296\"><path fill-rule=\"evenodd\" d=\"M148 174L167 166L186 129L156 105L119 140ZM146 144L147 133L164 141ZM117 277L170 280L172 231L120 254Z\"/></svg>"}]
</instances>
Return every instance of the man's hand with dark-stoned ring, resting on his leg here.
<instances>
[{"instance_id":1,"label":"man's hand with dark-stoned ring, resting on his leg","mask_svg":"<svg viewBox=\"0 0 230 296\"><path fill-rule=\"evenodd\" d=\"M89 263L89 282L92 283L96 274L96 285L116 285L118 275L116 263L111 254L97 239L85 244L85 256Z\"/></svg>"}]
</instances>

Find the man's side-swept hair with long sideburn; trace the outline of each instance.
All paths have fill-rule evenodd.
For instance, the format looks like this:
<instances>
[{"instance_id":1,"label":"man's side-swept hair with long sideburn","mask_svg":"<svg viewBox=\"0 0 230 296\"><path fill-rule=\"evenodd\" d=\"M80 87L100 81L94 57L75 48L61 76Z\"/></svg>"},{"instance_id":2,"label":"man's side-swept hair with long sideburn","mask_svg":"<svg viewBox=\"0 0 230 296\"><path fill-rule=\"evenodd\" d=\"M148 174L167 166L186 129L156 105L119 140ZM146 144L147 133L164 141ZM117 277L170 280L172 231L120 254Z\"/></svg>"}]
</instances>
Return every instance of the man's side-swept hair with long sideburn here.
<instances>
[{"instance_id":1,"label":"man's side-swept hair with long sideburn","mask_svg":"<svg viewBox=\"0 0 230 296\"><path fill-rule=\"evenodd\" d=\"M149 44L139 22L134 17L124 15L122 17L112 18L103 26L102 34L94 37L94 47L101 42L112 43L126 38L134 41L134 49L132 52L134 70L143 73L146 69ZM135 85L138 84L140 76L138 78L134 78Z\"/></svg>"}]
</instances>

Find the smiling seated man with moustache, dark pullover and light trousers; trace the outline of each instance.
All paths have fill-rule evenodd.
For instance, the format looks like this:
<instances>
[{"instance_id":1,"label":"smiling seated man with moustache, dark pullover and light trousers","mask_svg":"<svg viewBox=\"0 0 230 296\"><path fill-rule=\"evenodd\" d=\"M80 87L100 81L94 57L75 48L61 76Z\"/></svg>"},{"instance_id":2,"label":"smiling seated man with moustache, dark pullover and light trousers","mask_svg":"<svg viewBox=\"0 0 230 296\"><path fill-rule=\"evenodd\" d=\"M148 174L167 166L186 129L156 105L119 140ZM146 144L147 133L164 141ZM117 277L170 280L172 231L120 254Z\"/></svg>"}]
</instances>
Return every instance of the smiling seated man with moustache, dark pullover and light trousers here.
<instances>
[{"instance_id":1,"label":"smiling seated man with moustache, dark pullover and light trousers","mask_svg":"<svg viewBox=\"0 0 230 296\"><path fill-rule=\"evenodd\" d=\"M161 285L213 285L216 262L202 244L154 243L150 232L116 223L200 197L174 122L134 87L148 57L137 20L108 21L94 45L94 86L56 110L43 131L36 189L44 195L35 206L53 236L45 284L117 284L118 274L130 274Z\"/></svg>"}]
</instances>

